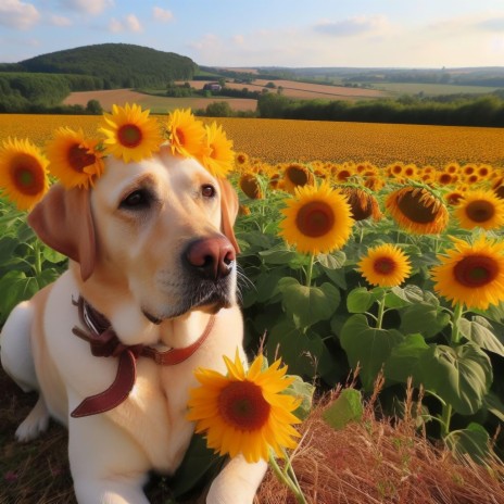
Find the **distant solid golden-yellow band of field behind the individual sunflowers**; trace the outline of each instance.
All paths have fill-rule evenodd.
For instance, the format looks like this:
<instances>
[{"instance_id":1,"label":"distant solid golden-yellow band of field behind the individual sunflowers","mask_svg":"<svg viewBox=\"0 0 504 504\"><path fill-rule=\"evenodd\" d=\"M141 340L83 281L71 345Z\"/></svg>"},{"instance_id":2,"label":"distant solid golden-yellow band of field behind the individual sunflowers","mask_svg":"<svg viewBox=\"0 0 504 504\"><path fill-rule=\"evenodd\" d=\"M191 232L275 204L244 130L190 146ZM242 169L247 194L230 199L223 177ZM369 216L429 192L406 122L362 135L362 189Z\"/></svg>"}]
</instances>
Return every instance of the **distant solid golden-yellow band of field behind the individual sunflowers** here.
<instances>
[{"instance_id":1,"label":"distant solid golden-yellow band of field behind the individual sunflowers","mask_svg":"<svg viewBox=\"0 0 504 504\"><path fill-rule=\"evenodd\" d=\"M159 119L164 116L159 115ZM268 163L369 161L383 166L399 160L433 166L452 161L504 166L502 128L237 117L216 121L234 141L237 152ZM9 136L29 137L41 146L59 126L80 127L87 135L93 135L100 122L99 116L3 114L0 140Z\"/></svg>"}]
</instances>

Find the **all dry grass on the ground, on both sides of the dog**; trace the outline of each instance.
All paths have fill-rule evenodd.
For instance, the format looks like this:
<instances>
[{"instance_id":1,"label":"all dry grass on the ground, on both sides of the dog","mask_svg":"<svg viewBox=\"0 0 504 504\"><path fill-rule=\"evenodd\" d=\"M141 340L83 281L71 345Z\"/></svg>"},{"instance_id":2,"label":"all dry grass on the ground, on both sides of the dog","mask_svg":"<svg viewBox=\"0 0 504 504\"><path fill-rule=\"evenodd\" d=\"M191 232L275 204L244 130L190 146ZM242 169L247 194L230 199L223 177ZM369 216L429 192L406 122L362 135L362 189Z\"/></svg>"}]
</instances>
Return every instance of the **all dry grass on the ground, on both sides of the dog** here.
<instances>
[{"instance_id":1,"label":"all dry grass on the ground, on both sides of the dog","mask_svg":"<svg viewBox=\"0 0 504 504\"><path fill-rule=\"evenodd\" d=\"M35 396L23 394L1 370L0 390L0 504L75 504L65 429L53 424L40 439L16 443L15 428ZM504 502L500 462L483 467L456 461L418 436L413 420L377 419L373 404L363 421L333 431L322 419L324 407L320 402L303 423L303 440L292 461L310 504ZM171 502L164 480L154 480L147 493L153 503ZM294 500L268 471L255 503Z\"/></svg>"}]
</instances>

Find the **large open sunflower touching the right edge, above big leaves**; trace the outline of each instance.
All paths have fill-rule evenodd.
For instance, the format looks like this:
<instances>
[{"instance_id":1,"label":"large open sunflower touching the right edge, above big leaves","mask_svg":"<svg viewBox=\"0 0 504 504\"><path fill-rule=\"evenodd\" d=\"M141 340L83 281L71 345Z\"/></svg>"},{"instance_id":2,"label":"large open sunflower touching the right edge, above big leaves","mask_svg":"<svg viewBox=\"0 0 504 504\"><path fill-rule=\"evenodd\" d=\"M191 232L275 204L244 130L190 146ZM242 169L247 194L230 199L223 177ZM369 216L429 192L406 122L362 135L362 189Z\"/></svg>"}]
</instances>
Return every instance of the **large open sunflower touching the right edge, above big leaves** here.
<instances>
[{"instance_id":1,"label":"large open sunflower touching the right edge, above big leaves","mask_svg":"<svg viewBox=\"0 0 504 504\"><path fill-rule=\"evenodd\" d=\"M434 290L452 304L487 310L504 301L504 243L482 235L472 244L452 238L455 247L431 268Z\"/></svg>"}]
</instances>

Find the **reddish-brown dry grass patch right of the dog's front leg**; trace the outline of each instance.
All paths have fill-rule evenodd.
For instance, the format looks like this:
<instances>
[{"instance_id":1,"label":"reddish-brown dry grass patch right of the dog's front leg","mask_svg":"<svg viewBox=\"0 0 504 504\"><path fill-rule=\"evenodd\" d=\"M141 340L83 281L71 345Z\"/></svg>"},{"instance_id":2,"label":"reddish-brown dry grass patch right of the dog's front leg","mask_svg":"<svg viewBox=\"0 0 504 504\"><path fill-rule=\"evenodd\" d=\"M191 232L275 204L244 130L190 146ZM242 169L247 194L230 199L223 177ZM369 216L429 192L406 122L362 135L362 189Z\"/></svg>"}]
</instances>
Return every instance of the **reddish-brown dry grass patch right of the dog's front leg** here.
<instances>
[{"instance_id":1,"label":"reddish-brown dry grass patch right of the dog's front leg","mask_svg":"<svg viewBox=\"0 0 504 504\"><path fill-rule=\"evenodd\" d=\"M455 459L419 436L413 420L378 420L368 405L363 421L327 427L319 405L302 425L292 465L310 504L497 504L504 466ZM269 471L257 503L295 504Z\"/></svg>"}]
</instances>

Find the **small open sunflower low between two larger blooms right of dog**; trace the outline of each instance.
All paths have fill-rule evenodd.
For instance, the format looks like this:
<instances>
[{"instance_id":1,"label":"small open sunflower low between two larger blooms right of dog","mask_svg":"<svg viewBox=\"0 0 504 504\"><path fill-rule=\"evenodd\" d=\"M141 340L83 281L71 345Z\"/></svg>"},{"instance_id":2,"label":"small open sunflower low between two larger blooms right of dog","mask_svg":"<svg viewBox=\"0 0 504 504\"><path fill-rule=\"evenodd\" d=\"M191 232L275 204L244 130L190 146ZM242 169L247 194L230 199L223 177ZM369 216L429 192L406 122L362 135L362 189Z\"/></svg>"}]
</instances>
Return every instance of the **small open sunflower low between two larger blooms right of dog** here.
<instances>
[{"instance_id":1,"label":"small open sunflower low between two larger blooms right of dog","mask_svg":"<svg viewBox=\"0 0 504 504\"><path fill-rule=\"evenodd\" d=\"M379 287L400 286L412 272L406 254L391 243L369 249L357 266L369 284Z\"/></svg>"}]
</instances>

